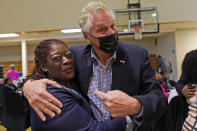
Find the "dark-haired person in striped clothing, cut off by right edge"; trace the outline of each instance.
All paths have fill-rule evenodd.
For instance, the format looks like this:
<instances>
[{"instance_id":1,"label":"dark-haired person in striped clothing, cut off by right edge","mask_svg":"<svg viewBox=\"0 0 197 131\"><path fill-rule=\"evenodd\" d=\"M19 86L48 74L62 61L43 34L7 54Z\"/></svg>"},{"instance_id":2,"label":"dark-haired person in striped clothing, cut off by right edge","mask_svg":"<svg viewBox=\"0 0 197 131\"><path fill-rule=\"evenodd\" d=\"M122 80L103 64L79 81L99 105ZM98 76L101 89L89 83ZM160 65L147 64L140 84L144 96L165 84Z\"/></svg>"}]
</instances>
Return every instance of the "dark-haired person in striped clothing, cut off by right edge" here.
<instances>
[{"instance_id":1,"label":"dark-haired person in striped clothing, cut off by right edge","mask_svg":"<svg viewBox=\"0 0 197 131\"><path fill-rule=\"evenodd\" d=\"M182 63L182 74L178 81L177 88L182 90L181 94L186 98L189 105L188 116L185 119L182 130L197 130L196 117L196 90L197 90L197 50L192 50L185 55ZM183 99L185 102L185 99ZM187 110L184 116L186 116Z\"/></svg>"}]
</instances>

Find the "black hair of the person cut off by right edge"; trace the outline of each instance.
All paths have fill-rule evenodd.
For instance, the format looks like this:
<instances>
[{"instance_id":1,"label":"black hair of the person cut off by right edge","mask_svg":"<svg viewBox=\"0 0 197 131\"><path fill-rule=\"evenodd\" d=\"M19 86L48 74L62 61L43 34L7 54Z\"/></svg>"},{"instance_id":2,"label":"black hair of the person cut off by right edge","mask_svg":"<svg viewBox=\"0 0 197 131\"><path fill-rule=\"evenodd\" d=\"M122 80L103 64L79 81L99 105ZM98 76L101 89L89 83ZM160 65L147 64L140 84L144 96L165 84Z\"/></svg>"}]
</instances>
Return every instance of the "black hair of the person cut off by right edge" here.
<instances>
[{"instance_id":1,"label":"black hair of the person cut off by right edge","mask_svg":"<svg viewBox=\"0 0 197 131\"><path fill-rule=\"evenodd\" d=\"M197 50L192 50L185 55L182 75L188 83L197 83Z\"/></svg>"}]
</instances>

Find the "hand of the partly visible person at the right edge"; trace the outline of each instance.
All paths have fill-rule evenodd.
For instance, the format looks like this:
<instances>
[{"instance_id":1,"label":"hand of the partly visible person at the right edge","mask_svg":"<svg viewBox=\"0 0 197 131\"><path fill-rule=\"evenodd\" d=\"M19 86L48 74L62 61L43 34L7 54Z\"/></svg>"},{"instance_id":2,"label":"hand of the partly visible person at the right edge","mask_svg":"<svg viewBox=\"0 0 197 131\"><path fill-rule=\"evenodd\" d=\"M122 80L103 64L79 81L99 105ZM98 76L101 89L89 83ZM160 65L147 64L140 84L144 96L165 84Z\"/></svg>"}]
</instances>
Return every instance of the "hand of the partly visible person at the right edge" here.
<instances>
[{"instance_id":1,"label":"hand of the partly visible person at the right edge","mask_svg":"<svg viewBox=\"0 0 197 131\"><path fill-rule=\"evenodd\" d=\"M195 95L196 89L193 88L192 84L187 84L183 87L182 89L182 94L186 97L186 98L191 98Z\"/></svg>"}]
</instances>

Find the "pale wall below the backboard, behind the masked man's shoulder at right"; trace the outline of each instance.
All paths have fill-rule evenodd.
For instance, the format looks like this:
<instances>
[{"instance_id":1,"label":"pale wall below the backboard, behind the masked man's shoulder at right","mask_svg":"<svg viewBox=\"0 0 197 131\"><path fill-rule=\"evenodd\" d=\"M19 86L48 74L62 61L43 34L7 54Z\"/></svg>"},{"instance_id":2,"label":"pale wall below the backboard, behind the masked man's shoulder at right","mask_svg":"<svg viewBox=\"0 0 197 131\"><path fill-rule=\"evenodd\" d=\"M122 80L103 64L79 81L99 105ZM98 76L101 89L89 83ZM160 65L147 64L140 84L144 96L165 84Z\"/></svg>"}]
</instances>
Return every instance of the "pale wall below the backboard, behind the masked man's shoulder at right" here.
<instances>
[{"instance_id":1,"label":"pale wall below the backboard, behind the masked man's shoulder at right","mask_svg":"<svg viewBox=\"0 0 197 131\"><path fill-rule=\"evenodd\" d=\"M142 47L146 48L150 54L166 57L171 62L173 68L171 79L177 81L177 63L174 33L168 33L157 38L157 44L155 43L156 38L143 38L143 40L127 39L123 41L141 45Z\"/></svg>"}]
</instances>

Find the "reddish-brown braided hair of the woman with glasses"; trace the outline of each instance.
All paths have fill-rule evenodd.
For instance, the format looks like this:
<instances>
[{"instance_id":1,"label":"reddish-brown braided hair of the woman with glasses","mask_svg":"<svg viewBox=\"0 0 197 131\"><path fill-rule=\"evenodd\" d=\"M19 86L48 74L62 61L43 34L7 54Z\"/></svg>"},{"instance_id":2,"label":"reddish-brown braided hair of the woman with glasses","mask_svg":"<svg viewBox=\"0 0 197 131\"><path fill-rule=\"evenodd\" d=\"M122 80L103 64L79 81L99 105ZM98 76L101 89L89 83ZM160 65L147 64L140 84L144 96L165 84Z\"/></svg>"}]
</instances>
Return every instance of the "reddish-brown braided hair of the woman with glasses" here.
<instances>
[{"instance_id":1,"label":"reddish-brown braided hair of the woman with glasses","mask_svg":"<svg viewBox=\"0 0 197 131\"><path fill-rule=\"evenodd\" d=\"M28 76L27 79L38 80L48 78L47 72L43 71L41 66L47 63L47 56L49 55L51 45L53 44L63 44L67 47L66 43L57 39L47 39L41 41L34 50L35 66L32 71L32 74Z\"/></svg>"}]
</instances>

